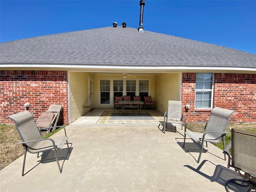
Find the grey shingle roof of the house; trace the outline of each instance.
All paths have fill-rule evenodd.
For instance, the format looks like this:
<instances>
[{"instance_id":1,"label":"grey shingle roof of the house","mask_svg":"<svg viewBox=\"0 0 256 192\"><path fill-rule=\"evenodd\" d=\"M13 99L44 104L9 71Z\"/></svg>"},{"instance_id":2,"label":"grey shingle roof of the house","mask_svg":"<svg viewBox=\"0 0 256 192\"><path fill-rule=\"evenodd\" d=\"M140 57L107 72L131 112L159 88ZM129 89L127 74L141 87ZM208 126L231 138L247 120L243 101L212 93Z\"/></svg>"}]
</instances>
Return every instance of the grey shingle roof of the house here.
<instances>
[{"instance_id":1,"label":"grey shingle roof of the house","mask_svg":"<svg viewBox=\"0 0 256 192\"><path fill-rule=\"evenodd\" d=\"M0 44L0 64L256 68L256 55L122 26Z\"/></svg>"}]
</instances>

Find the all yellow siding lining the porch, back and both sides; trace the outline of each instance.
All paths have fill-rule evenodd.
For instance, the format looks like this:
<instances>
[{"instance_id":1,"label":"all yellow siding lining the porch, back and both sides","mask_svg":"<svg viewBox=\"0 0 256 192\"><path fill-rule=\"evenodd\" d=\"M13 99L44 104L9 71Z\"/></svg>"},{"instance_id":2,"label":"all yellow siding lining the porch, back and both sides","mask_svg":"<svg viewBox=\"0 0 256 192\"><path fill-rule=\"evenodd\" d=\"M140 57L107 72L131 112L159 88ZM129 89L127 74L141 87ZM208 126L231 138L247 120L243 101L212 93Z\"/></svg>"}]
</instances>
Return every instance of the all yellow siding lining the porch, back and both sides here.
<instances>
[{"instance_id":1,"label":"all yellow siding lining the porch, back and both sides","mask_svg":"<svg viewBox=\"0 0 256 192\"><path fill-rule=\"evenodd\" d=\"M168 111L168 100L180 100L181 73L164 73L156 75L134 75L136 78L131 80L144 79L150 80L150 96L154 101L155 108L164 113ZM118 79L125 80L120 74L91 74L88 72L70 72L70 112L71 122L88 112L88 77L93 78L94 82L94 108L114 107L114 105L99 104L99 80ZM111 98L114 100L114 98Z\"/></svg>"}]
</instances>

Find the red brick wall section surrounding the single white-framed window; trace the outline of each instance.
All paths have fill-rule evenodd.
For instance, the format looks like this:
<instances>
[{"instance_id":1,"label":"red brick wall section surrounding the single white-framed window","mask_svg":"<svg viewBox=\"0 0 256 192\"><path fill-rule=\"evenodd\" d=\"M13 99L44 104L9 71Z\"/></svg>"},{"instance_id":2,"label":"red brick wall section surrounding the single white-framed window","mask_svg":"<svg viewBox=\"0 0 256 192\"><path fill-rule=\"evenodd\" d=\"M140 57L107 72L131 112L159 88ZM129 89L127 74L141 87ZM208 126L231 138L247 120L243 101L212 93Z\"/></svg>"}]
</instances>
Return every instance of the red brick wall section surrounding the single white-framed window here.
<instances>
[{"instance_id":1,"label":"red brick wall section surrounding the single white-framed window","mask_svg":"<svg viewBox=\"0 0 256 192\"><path fill-rule=\"evenodd\" d=\"M206 122L211 110L194 108L196 73L182 74L182 104L190 104L187 120ZM230 122L256 123L256 74L214 74L213 107L234 110Z\"/></svg>"}]
</instances>

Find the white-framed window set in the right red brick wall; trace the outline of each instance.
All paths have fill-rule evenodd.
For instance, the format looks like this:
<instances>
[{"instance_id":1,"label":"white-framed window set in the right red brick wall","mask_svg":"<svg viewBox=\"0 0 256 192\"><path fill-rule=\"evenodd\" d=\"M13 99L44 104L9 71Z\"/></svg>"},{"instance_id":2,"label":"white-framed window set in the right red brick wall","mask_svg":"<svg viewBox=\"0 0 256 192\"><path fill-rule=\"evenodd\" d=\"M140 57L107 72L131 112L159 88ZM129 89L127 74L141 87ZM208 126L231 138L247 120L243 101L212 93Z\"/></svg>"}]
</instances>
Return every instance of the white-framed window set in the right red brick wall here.
<instances>
[{"instance_id":1,"label":"white-framed window set in the right red brick wall","mask_svg":"<svg viewBox=\"0 0 256 192\"><path fill-rule=\"evenodd\" d=\"M213 98L213 74L196 74L196 102L195 108L212 108Z\"/></svg>"}]
</instances>

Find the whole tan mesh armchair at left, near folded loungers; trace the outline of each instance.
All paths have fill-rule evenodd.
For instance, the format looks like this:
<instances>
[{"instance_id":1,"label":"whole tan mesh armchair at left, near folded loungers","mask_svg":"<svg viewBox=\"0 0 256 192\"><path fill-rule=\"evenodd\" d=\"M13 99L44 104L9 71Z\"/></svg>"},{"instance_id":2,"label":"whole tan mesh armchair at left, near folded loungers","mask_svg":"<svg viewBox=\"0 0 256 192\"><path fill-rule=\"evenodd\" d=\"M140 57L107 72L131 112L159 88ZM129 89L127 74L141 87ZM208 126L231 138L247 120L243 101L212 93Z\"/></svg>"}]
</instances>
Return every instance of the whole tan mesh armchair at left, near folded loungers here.
<instances>
[{"instance_id":1,"label":"whole tan mesh armchair at left, near folded loungers","mask_svg":"<svg viewBox=\"0 0 256 192\"><path fill-rule=\"evenodd\" d=\"M39 157L40 152L45 152L48 150L54 151L56 162L58 164L58 168L61 173L62 169L60 168L60 163L57 158L57 150L58 149L61 150L65 142L68 146L68 137L66 136L65 128L63 127L65 136L60 136L58 138L43 139L36 126L36 123L33 120L33 116L30 112L28 111L19 112L19 113L8 116L8 118L15 122L16 129L22 140L22 142L18 142L17 144L22 144L24 148L22 176L24 176L26 153L27 152L30 152L32 154L37 153L38 154L37 157ZM70 152L69 146L68 146L68 152Z\"/></svg>"}]
</instances>

